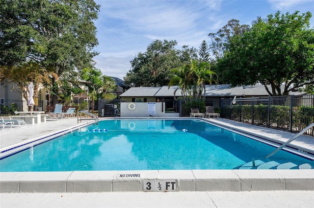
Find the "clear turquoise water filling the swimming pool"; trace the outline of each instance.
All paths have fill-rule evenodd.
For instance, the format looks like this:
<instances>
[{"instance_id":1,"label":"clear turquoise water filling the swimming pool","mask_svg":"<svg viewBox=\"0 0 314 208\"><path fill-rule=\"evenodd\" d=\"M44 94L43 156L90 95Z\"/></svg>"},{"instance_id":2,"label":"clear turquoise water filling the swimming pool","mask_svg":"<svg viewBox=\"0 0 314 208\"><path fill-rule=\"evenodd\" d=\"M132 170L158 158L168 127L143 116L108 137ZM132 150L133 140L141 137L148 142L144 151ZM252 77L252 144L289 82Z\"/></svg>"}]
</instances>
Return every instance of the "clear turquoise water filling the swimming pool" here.
<instances>
[{"instance_id":1,"label":"clear turquoise water filling the swimming pool","mask_svg":"<svg viewBox=\"0 0 314 208\"><path fill-rule=\"evenodd\" d=\"M198 119L103 120L2 159L0 171L234 169L274 149Z\"/></svg>"}]
</instances>

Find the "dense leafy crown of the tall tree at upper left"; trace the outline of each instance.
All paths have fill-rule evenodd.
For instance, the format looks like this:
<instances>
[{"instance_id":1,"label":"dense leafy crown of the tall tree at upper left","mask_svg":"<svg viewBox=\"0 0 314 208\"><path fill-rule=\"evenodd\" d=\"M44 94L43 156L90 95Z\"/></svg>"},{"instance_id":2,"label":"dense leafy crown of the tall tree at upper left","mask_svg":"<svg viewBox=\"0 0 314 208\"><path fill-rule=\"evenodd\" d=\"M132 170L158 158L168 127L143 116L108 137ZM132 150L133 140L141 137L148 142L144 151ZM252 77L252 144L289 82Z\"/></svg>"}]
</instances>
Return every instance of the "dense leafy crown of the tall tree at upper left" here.
<instances>
[{"instance_id":1,"label":"dense leafy crown of the tall tree at upper left","mask_svg":"<svg viewBox=\"0 0 314 208\"><path fill-rule=\"evenodd\" d=\"M98 45L93 0L0 0L0 66L33 60L61 76L93 65Z\"/></svg>"}]
</instances>

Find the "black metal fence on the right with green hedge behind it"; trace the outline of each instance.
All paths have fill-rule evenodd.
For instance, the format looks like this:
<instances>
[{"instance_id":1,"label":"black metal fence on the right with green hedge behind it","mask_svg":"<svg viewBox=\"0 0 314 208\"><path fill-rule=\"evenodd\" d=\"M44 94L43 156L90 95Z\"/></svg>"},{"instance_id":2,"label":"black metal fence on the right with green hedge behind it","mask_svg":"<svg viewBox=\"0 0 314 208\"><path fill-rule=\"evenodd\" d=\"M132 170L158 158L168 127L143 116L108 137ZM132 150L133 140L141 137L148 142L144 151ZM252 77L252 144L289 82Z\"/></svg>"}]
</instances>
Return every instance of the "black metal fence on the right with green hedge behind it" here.
<instances>
[{"instance_id":1,"label":"black metal fence on the right with green hedge behind it","mask_svg":"<svg viewBox=\"0 0 314 208\"><path fill-rule=\"evenodd\" d=\"M314 123L314 94L266 96L240 99L180 99L176 104L180 116L189 116L191 108L206 112L213 106L220 117L289 132L300 132ZM313 128L306 134L314 136Z\"/></svg>"}]
</instances>

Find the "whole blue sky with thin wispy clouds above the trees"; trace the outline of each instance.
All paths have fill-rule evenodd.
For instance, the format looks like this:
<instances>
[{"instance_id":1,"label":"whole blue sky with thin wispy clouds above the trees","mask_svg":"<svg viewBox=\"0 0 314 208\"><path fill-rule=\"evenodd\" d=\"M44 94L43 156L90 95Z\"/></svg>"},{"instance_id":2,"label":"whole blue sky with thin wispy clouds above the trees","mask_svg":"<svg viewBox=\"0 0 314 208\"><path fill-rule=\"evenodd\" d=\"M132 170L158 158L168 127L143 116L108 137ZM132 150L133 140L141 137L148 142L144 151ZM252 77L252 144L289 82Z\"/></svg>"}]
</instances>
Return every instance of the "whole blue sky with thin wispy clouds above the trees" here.
<instances>
[{"instance_id":1,"label":"whole blue sky with thin wispy clouds above the trees","mask_svg":"<svg viewBox=\"0 0 314 208\"><path fill-rule=\"evenodd\" d=\"M95 0L101 5L95 22L100 52L94 58L104 75L120 79L131 69L130 61L145 52L154 40L176 40L178 47L199 49L209 33L216 33L232 19L251 25L268 14L314 15L314 0ZM314 17L311 27L314 26Z\"/></svg>"}]
</instances>

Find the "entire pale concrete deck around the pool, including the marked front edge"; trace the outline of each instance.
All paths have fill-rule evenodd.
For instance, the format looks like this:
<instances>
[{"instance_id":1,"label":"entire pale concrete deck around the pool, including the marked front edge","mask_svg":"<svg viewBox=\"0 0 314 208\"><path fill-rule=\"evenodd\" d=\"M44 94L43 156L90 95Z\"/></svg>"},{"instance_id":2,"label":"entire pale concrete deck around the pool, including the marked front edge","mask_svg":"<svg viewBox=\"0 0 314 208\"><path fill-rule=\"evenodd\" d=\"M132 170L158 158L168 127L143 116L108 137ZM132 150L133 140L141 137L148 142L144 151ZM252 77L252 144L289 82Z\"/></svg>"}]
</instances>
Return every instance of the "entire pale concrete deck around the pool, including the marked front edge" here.
<instances>
[{"instance_id":1,"label":"entire pale concrete deck around the pool, including the marked front edge","mask_svg":"<svg viewBox=\"0 0 314 208\"><path fill-rule=\"evenodd\" d=\"M295 135L222 118L210 120L280 141ZM65 118L0 130L0 149L77 124L76 118ZM300 136L292 143L314 151L313 137ZM121 174L0 173L0 207L314 207L313 169L128 171L125 174L142 174L129 179ZM144 183L154 180L176 180L176 192L143 192Z\"/></svg>"}]
</instances>

